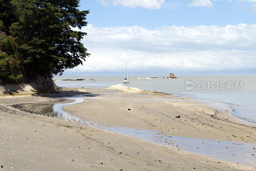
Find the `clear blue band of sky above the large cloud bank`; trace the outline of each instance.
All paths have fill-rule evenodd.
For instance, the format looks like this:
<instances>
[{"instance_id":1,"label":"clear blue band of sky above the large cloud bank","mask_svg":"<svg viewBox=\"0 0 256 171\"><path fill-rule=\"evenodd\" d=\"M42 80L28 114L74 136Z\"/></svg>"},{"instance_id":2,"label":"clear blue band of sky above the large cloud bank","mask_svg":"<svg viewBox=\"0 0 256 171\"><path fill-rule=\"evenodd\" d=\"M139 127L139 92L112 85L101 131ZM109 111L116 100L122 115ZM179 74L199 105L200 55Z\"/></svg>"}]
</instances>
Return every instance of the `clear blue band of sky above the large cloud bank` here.
<instances>
[{"instance_id":1,"label":"clear blue band of sky above the large cloud bank","mask_svg":"<svg viewBox=\"0 0 256 171\"><path fill-rule=\"evenodd\" d=\"M165 0L161 9L104 6L97 0L81 0L80 10L90 9L87 19L95 27L138 25L150 29L162 26L237 25L256 23L249 1L212 1L212 7L188 4L192 0ZM256 4L256 3L255 3Z\"/></svg>"}]
</instances>

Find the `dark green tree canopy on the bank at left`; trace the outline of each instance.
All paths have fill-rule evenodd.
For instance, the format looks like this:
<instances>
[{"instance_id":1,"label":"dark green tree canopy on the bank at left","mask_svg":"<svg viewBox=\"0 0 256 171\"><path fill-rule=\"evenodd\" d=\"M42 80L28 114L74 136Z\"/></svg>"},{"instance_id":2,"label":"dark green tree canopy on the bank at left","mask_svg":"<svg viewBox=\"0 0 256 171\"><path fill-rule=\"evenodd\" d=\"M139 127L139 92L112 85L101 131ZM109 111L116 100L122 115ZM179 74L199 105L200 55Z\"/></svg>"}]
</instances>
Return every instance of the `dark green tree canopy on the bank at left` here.
<instances>
[{"instance_id":1,"label":"dark green tree canopy on the bank at left","mask_svg":"<svg viewBox=\"0 0 256 171\"><path fill-rule=\"evenodd\" d=\"M22 75L62 74L82 64L87 49L81 43L89 11L79 0L0 0L0 78L18 82Z\"/></svg>"}]
</instances>

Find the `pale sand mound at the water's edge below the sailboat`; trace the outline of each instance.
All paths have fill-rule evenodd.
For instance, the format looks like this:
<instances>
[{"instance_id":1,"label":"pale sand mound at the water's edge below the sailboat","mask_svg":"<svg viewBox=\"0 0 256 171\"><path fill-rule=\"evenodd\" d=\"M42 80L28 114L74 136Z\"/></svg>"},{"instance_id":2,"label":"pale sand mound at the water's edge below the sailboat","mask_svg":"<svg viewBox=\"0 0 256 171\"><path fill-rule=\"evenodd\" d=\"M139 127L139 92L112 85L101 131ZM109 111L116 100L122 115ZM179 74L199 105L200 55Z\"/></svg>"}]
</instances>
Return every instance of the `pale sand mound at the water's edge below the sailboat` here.
<instances>
[{"instance_id":1,"label":"pale sand mound at the water's edge below the sailboat","mask_svg":"<svg viewBox=\"0 0 256 171\"><path fill-rule=\"evenodd\" d=\"M118 90L121 90L125 93L143 93L143 94L155 94L155 95L170 95L170 94L165 94L165 93L159 93L159 92L156 92L156 91L153 91L153 90L144 90L144 89L138 89L138 88L135 88L135 87L126 87L122 84L117 84L117 85L112 85L106 89L118 89Z\"/></svg>"}]
</instances>

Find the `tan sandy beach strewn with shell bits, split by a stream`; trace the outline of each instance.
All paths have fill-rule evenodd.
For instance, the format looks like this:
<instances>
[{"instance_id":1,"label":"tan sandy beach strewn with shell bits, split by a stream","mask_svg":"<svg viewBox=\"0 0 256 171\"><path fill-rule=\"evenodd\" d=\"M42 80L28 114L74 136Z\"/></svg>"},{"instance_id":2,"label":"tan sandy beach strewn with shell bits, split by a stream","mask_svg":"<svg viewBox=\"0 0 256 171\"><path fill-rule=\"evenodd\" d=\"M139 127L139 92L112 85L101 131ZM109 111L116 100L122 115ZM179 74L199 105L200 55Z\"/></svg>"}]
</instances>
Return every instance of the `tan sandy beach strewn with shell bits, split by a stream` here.
<instances>
[{"instance_id":1,"label":"tan sandy beach strewn with shell bits, split by a stream","mask_svg":"<svg viewBox=\"0 0 256 171\"><path fill-rule=\"evenodd\" d=\"M0 99L0 169L255 170L255 161L230 163L184 151L176 144L161 145L54 117L53 105L72 102L61 97L75 95L84 95L84 102L66 105L63 110L105 127L255 144L255 126L196 99L154 92L61 88L56 94Z\"/></svg>"}]
</instances>

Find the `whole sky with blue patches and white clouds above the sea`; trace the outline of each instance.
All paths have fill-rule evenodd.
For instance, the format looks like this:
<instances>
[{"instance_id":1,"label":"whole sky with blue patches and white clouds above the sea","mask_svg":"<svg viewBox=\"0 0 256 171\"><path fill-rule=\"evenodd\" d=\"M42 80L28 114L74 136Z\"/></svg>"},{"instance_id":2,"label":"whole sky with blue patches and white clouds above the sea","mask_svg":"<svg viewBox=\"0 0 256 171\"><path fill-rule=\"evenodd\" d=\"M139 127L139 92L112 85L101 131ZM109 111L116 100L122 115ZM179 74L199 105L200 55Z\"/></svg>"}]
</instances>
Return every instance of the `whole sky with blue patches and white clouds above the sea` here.
<instances>
[{"instance_id":1,"label":"whole sky with blue patches and white clouds above the sea","mask_svg":"<svg viewBox=\"0 0 256 171\"><path fill-rule=\"evenodd\" d=\"M256 0L81 0L91 55L63 76L256 75ZM78 30L78 28L73 28Z\"/></svg>"}]
</instances>

